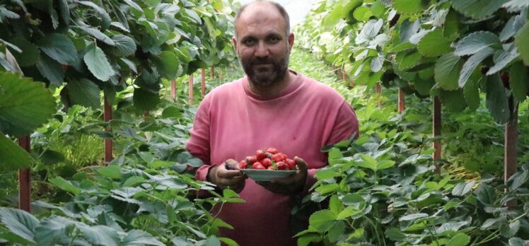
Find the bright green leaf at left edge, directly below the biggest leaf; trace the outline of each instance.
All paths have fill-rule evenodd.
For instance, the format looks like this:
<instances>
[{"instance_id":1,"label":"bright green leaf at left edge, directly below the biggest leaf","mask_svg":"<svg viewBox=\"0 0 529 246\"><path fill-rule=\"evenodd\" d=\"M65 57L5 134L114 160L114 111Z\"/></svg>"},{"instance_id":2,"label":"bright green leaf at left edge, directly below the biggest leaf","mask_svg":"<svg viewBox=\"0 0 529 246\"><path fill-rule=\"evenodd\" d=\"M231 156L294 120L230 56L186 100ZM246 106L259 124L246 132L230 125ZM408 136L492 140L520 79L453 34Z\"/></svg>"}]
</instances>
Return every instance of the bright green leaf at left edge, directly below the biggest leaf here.
<instances>
[{"instance_id":1,"label":"bright green leaf at left edge, directly below the biggest leaf","mask_svg":"<svg viewBox=\"0 0 529 246\"><path fill-rule=\"evenodd\" d=\"M33 159L27 151L1 133L0 156L2 157L0 158L0 170L2 171L29 168L33 163Z\"/></svg>"}]
</instances>

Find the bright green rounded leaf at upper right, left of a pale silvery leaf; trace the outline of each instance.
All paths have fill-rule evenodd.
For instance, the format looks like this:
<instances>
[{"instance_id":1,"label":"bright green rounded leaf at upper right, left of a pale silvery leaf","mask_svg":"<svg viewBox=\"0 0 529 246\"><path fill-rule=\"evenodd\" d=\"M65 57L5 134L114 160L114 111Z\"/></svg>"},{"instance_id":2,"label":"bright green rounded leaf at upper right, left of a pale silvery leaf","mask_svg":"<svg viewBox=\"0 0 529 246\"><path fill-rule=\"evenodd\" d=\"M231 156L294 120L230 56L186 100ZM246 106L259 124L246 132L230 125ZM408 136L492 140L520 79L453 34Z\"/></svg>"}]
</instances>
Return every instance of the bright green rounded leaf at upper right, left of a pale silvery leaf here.
<instances>
[{"instance_id":1,"label":"bright green rounded leaf at upper right, left of a pale silvery leaf","mask_svg":"<svg viewBox=\"0 0 529 246\"><path fill-rule=\"evenodd\" d=\"M426 33L422 37L419 45L417 45L417 50L424 57L437 57L452 51L450 47L452 41L453 39L451 38L443 37L443 31L441 29L436 29Z\"/></svg>"}]
</instances>

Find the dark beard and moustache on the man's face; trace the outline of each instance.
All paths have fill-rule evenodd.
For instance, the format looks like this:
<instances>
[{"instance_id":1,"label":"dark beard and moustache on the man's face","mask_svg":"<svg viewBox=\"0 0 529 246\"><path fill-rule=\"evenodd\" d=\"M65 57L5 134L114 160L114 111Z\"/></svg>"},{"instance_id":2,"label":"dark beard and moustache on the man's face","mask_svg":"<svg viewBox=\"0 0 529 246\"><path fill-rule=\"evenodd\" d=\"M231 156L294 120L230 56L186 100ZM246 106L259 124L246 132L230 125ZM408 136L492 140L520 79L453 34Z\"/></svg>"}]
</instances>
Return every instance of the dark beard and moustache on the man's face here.
<instances>
[{"instance_id":1,"label":"dark beard and moustache on the man's face","mask_svg":"<svg viewBox=\"0 0 529 246\"><path fill-rule=\"evenodd\" d=\"M283 59L274 61L274 58L260 58L254 57L252 59L243 60L240 59L240 63L243 65L244 72L257 86L269 87L273 86L281 81L287 74L289 68L289 55L290 52L287 50ZM254 69L254 66L260 64L272 64L272 66L265 66Z\"/></svg>"}]
</instances>

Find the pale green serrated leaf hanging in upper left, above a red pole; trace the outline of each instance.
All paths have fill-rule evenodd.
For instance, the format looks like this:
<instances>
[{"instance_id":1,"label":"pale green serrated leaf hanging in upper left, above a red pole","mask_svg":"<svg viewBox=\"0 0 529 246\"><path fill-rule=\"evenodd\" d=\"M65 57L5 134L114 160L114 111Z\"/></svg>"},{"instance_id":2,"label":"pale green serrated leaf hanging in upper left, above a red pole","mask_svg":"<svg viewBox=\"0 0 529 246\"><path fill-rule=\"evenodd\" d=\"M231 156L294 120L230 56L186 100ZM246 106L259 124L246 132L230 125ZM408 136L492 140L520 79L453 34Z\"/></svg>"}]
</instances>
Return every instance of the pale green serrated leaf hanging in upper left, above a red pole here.
<instances>
[{"instance_id":1,"label":"pale green serrated leaf hanging in upper left, above a red pole","mask_svg":"<svg viewBox=\"0 0 529 246\"><path fill-rule=\"evenodd\" d=\"M115 74L115 71L110 66L108 62L107 55L103 52L100 47L93 46L86 54L84 55L84 62L90 70L100 81L108 81L110 76Z\"/></svg>"}]
</instances>

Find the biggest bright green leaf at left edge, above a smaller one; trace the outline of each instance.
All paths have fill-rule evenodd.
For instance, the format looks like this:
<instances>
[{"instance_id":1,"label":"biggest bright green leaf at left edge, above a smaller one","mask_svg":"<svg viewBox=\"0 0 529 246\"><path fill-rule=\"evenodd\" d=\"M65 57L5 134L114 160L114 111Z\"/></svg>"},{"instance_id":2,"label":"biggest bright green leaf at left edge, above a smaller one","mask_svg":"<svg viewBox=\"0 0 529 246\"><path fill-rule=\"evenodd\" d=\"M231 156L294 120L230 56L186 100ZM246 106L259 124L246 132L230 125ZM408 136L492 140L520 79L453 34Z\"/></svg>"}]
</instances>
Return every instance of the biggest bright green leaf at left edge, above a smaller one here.
<instances>
[{"instance_id":1,"label":"biggest bright green leaf at left edge, above a smaller one","mask_svg":"<svg viewBox=\"0 0 529 246\"><path fill-rule=\"evenodd\" d=\"M7 126L4 134L30 134L55 112L55 99L44 83L0 72L0 87L0 125Z\"/></svg>"}]
</instances>

